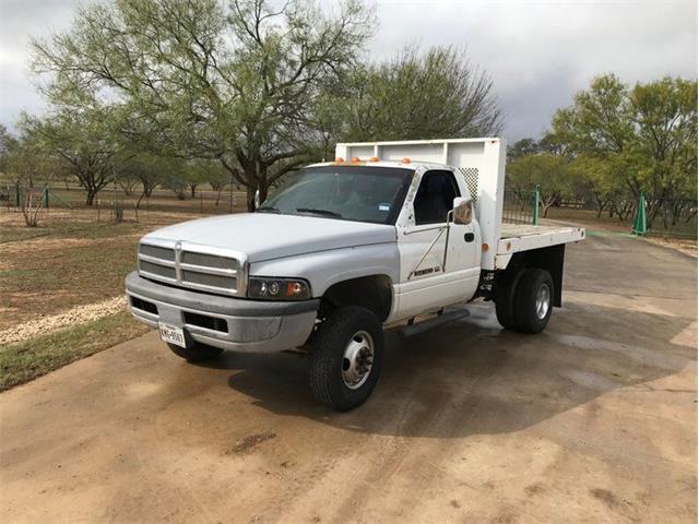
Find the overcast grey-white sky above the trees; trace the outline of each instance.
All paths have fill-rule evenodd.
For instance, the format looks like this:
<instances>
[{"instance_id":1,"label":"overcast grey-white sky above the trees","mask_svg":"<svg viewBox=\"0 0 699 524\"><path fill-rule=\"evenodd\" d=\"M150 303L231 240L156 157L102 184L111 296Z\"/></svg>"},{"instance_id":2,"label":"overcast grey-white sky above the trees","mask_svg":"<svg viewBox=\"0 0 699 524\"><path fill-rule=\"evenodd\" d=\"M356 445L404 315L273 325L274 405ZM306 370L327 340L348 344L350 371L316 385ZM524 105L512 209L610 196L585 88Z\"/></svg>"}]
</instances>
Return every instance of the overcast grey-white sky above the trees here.
<instances>
[{"instance_id":1,"label":"overcast grey-white sky above the trees","mask_svg":"<svg viewBox=\"0 0 699 524\"><path fill-rule=\"evenodd\" d=\"M321 4L323 1L322 0ZM333 0L334 1L334 0ZM696 0L375 0L369 59L406 45L465 47L493 79L508 141L538 138L592 78L697 79ZM70 27L74 0L0 0L0 123L45 109L28 39Z\"/></svg>"}]
</instances>

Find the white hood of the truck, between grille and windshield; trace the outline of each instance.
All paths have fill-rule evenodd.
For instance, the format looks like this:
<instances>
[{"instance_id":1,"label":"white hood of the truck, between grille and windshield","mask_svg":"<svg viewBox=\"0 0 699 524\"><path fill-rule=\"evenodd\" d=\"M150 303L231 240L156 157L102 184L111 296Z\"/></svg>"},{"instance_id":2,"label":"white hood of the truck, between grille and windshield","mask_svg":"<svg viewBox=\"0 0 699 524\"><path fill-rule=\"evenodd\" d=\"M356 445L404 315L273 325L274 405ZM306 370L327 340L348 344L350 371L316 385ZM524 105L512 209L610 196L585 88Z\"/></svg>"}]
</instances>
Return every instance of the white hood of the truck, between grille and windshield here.
<instances>
[{"instance_id":1,"label":"white hood of the truck, between grille and windshield","mask_svg":"<svg viewBox=\"0 0 699 524\"><path fill-rule=\"evenodd\" d=\"M395 227L315 216L241 213L183 222L144 239L186 241L244 252L250 262L329 249L394 242Z\"/></svg>"}]
</instances>

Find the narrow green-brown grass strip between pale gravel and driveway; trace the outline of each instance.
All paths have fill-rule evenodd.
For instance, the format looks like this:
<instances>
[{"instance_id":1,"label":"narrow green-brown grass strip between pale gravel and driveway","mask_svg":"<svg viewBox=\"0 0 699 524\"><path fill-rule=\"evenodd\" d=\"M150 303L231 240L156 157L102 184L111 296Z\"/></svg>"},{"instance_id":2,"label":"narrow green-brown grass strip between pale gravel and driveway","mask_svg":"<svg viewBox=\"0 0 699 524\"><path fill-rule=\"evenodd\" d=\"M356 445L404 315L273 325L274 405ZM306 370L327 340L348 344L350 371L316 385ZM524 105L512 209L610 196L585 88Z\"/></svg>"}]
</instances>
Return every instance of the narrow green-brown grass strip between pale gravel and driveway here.
<instances>
[{"instance_id":1,"label":"narrow green-brown grass strip between pale gravel and driveway","mask_svg":"<svg viewBox=\"0 0 699 524\"><path fill-rule=\"evenodd\" d=\"M31 341L0 347L0 391L46 374L149 331L122 311Z\"/></svg>"}]
</instances>

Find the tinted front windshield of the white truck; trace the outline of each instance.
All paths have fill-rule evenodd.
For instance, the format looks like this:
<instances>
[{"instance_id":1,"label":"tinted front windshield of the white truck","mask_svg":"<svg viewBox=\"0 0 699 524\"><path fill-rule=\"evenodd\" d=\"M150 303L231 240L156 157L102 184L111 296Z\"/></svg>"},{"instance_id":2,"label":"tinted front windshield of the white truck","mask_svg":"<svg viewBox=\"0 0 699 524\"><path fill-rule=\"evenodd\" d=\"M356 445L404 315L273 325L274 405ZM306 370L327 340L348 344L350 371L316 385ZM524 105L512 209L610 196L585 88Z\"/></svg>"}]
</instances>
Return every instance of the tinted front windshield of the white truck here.
<instances>
[{"instance_id":1,"label":"tinted front windshield of the white truck","mask_svg":"<svg viewBox=\"0 0 699 524\"><path fill-rule=\"evenodd\" d=\"M394 224L413 172L378 166L309 167L288 177L258 211Z\"/></svg>"}]
</instances>

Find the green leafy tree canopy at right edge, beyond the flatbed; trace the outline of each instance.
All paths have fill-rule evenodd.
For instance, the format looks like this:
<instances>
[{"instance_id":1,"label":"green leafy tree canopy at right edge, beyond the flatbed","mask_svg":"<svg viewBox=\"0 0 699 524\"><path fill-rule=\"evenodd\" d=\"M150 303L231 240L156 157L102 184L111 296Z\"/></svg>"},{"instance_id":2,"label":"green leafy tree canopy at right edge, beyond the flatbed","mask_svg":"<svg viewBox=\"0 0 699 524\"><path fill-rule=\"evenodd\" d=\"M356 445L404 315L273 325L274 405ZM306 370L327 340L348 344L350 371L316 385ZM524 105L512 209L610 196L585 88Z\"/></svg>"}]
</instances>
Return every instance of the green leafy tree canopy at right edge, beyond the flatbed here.
<instances>
[{"instance_id":1,"label":"green leafy tree canopy at right edge, beyond the flatbed","mask_svg":"<svg viewBox=\"0 0 699 524\"><path fill-rule=\"evenodd\" d=\"M556 112L548 138L565 154L604 163L592 169L595 191L624 186L632 200L644 191L649 222L670 200L696 199L697 81L629 87L613 74L599 76Z\"/></svg>"}]
</instances>

